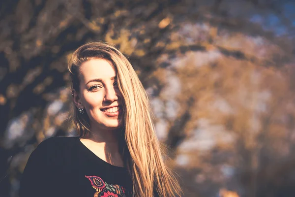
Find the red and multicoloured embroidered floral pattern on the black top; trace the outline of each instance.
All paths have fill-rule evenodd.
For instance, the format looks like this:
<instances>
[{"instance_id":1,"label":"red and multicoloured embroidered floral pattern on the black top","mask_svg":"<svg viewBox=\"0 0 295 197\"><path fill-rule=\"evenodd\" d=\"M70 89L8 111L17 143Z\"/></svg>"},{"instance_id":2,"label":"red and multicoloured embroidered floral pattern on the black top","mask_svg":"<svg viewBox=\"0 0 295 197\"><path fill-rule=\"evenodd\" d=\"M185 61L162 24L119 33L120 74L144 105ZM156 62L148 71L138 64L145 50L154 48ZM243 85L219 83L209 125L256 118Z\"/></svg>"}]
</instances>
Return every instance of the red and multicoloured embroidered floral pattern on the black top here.
<instances>
[{"instance_id":1,"label":"red and multicoloured embroidered floral pattern on the black top","mask_svg":"<svg viewBox=\"0 0 295 197\"><path fill-rule=\"evenodd\" d=\"M93 197L126 197L126 190L122 186L108 184L98 176L85 176L96 190Z\"/></svg>"}]
</instances>

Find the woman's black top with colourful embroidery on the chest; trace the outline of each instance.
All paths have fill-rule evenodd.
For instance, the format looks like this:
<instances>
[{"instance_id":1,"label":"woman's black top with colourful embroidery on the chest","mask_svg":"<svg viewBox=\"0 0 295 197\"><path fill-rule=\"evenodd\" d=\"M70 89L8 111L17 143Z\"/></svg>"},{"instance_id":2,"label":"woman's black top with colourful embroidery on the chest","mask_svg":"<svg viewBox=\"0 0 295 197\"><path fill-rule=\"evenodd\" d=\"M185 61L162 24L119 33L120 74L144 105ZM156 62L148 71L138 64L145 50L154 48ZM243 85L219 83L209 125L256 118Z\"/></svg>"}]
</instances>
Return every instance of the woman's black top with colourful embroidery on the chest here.
<instances>
[{"instance_id":1,"label":"woman's black top with colourful embroidery on the chest","mask_svg":"<svg viewBox=\"0 0 295 197\"><path fill-rule=\"evenodd\" d=\"M126 168L101 160L79 137L53 137L30 155L20 197L131 197L131 191Z\"/></svg>"}]
</instances>

